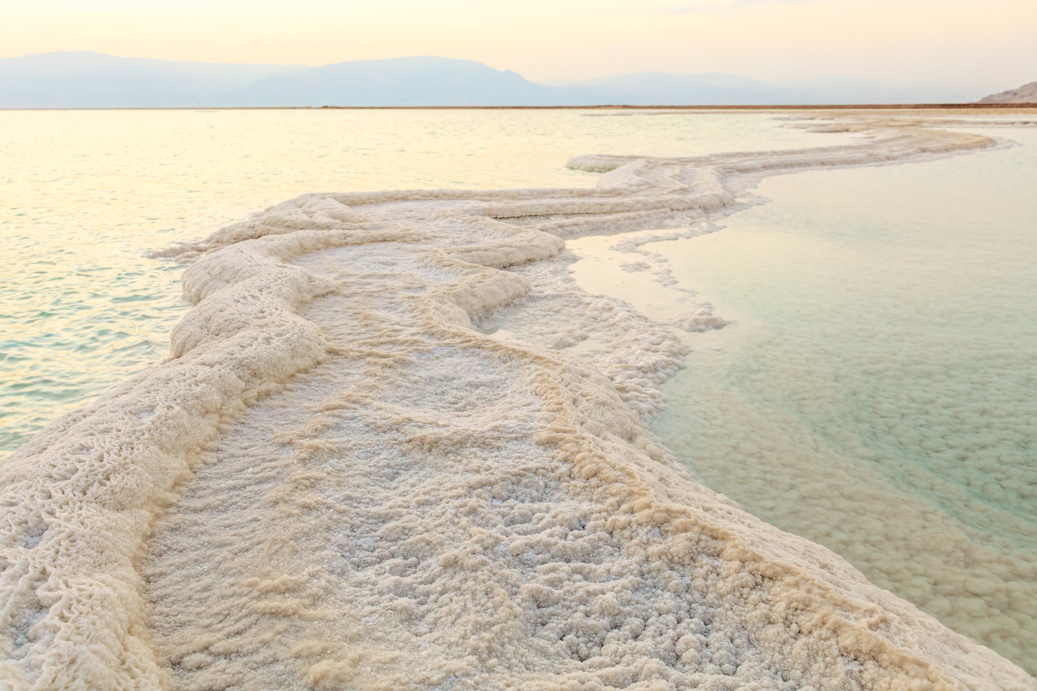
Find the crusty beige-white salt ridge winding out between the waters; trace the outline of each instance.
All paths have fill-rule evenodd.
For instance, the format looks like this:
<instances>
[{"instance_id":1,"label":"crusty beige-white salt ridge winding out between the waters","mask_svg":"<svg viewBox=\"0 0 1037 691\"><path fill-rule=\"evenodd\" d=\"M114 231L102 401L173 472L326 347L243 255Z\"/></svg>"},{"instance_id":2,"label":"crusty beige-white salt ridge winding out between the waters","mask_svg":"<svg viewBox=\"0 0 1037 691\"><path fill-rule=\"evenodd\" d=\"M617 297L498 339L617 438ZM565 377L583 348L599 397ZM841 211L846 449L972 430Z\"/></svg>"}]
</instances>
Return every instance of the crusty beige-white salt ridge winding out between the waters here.
<instances>
[{"instance_id":1,"label":"crusty beige-white salt ridge winding out between the waters","mask_svg":"<svg viewBox=\"0 0 1037 691\"><path fill-rule=\"evenodd\" d=\"M0 468L3 686L1037 688L690 478L642 425L684 346L567 275L563 236L694 226L764 174L994 143L871 134L304 195L187 248L170 358Z\"/></svg>"}]
</instances>

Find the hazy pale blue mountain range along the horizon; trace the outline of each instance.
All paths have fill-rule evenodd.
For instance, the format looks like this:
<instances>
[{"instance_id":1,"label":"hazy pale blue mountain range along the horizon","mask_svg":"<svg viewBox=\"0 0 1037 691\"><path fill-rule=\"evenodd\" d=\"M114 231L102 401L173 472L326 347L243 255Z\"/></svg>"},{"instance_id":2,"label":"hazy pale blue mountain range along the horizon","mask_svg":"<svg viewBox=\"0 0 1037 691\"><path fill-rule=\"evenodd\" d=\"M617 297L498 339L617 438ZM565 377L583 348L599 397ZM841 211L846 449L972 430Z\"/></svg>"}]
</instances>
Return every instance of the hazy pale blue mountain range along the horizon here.
<instances>
[{"instance_id":1,"label":"hazy pale blue mountain range along the horizon","mask_svg":"<svg viewBox=\"0 0 1037 691\"><path fill-rule=\"evenodd\" d=\"M641 73L536 84L432 56L305 65L177 62L88 51L0 59L0 108L742 106L962 103L975 95L830 79L776 87L724 74Z\"/></svg>"}]
</instances>

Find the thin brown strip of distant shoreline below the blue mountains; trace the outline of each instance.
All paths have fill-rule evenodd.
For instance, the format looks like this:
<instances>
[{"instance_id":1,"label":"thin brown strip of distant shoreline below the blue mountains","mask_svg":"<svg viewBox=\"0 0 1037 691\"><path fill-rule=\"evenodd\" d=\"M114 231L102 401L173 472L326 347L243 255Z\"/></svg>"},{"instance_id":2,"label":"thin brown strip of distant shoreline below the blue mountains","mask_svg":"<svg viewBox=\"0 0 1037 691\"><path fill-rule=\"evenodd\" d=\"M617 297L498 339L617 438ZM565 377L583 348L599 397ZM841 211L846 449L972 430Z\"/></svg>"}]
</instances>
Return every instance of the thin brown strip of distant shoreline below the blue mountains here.
<instances>
[{"instance_id":1,"label":"thin brown strip of distant shoreline below the blue mountains","mask_svg":"<svg viewBox=\"0 0 1037 691\"><path fill-rule=\"evenodd\" d=\"M1037 104L836 104L831 106L177 106L170 108L0 108L0 111L551 111L551 110L680 110L680 111L833 111L833 110L1037 110Z\"/></svg>"}]
</instances>

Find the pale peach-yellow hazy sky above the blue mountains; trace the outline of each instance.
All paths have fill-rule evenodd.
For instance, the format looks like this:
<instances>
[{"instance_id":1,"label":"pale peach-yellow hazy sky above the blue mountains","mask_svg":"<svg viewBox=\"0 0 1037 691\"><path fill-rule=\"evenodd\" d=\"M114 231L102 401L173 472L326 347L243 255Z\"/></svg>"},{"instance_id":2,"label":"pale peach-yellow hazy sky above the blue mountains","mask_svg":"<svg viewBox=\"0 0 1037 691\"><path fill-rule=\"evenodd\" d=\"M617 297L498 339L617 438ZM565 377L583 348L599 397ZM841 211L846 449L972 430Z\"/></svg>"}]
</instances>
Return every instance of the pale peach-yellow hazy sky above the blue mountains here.
<instances>
[{"instance_id":1,"label":"pale peach-yellow hazy sky above the blue mountains","mask_svg":"<svg viewBox=\"0 0 1037 691\"><path fill-rule=\"evenodd\" d=\"M0 57L327 64L441 55L534 81L658 70L1009 88L1037 0L0 0Z\"/></svg>"}]
</instances>

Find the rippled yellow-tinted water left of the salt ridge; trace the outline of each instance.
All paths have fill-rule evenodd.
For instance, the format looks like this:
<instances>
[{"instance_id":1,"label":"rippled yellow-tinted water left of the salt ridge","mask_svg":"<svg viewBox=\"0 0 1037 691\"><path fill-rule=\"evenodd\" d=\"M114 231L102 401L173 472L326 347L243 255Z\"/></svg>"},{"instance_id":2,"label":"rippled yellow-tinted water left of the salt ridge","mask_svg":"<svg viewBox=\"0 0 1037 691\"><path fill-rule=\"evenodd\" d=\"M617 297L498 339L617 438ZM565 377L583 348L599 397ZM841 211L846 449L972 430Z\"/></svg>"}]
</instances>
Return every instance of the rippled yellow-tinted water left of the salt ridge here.
<instances>
[{"instance_id":1,"label":"rippled yellow-tinted water left of the salt ridge","mask_svg":"<svg viewBox=\"0 0 1037 691\"><path fill-rule=\"evenodd\" d=\"M168 353L187 308L180 267L150 250L306 192L591 186L570 156L820 139L774 125L766 114L0 112L0 456Z\"/></svg>"}]
</instances>

